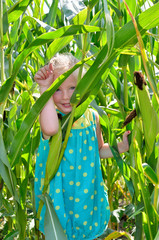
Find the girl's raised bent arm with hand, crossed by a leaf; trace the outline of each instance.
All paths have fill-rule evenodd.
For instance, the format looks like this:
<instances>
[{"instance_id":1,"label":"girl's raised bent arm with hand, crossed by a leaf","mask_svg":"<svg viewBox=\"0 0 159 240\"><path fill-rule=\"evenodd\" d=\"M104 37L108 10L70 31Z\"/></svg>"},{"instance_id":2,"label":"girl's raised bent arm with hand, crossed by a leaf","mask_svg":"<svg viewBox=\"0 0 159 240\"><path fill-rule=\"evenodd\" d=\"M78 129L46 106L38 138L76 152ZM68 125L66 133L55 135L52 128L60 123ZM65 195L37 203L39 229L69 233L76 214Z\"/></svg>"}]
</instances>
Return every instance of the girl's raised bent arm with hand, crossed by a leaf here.
<instances>
[{"instance_id":1,"label":"girl's raised bent arm with hand, crossed by a leaf","mask_svg":"<svg viewBox=\"0 0 159 240\"><path fill-rule=\"evenodd\" d=\"M52 64L44 66L35 74L34 80L40 87L40 94L43 94L51 86L54 81L53 77ZM51 97L45 104L40 113L39 120L43 137L45 139L48 139L50 136L53 136L58 132L59 122L53 97Z\"/></svg>"}]
</instances>

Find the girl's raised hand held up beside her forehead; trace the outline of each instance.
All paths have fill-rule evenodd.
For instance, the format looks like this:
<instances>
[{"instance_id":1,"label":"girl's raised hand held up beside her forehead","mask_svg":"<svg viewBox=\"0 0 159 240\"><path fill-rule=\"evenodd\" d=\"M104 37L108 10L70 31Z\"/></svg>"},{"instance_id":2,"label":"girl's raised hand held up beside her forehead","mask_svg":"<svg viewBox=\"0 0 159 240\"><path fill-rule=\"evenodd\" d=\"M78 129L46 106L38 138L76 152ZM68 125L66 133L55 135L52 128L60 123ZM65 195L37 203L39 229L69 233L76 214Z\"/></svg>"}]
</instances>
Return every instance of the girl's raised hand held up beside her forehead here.
<instances>
[{"instance_id":1,"label":"girl's raised hand held up beside her forehead","mask_svg":"<svg viewBox=\"0 0 159 240\"><path fill-rule=\"evenodd\" d=\"M49 88L54 81L52 64L50 63L39 69L34 76L34 80L40 88Z\"/></svg>"}]
</instances>

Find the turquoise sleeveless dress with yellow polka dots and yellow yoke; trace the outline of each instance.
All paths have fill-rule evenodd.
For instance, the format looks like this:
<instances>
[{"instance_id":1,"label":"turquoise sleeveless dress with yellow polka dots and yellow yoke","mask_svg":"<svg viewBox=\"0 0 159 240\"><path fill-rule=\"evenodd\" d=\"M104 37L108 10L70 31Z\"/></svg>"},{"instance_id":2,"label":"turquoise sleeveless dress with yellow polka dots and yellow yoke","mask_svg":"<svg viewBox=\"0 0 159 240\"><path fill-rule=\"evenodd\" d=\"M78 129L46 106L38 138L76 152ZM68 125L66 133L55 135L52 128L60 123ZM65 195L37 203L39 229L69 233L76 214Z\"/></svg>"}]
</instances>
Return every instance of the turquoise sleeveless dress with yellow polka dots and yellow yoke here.
<instances>
[{"instance_id":1,"label":"turquoise sleeveless dress with yellow polka dots and yellow yoke","mask_svg":"<svg viewBox=\"0 0 159 240\"><path fill-rule=\"evenodd\" d=\"M35 200L38 209L42 194L49 140L41 137L35 167ZM92 240L107 227L110 209L101 172L96 137L96 118L92 109L74 122L67 147L49 195L68 240ZM44 233L45 206L39 230Z\"/></svg>"}]
</instances>

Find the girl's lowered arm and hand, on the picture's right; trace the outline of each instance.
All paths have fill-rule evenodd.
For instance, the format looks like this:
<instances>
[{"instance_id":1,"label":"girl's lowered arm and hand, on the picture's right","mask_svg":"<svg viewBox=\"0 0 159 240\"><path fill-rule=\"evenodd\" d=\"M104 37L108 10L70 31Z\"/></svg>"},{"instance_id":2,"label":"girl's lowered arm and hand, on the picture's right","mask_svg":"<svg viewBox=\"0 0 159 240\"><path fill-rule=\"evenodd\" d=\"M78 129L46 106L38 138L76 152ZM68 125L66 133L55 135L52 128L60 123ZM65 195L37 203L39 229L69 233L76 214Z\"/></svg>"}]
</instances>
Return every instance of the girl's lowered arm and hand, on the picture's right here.
<instances>
[{"instance_id":1,"label":"girl's lowered arm and hand, on the picture's right","mask_svg":"<svg viewBox=\"0 0 159 240\"><path fill-rule=\"evenodd\" d=\"M99 155L100 158L112 158L113 154L109 147L108 143L104 143L100 123L99 123L99 116L96 114L96 122L97 122L97 139L98 139L98 146L99 146ZM124 153L129 150L129 143L127 136L130 134L130 131L126 131L123 134L123 141L118 143L118 151L119 153Z\"/></svg>"}]
</instances>

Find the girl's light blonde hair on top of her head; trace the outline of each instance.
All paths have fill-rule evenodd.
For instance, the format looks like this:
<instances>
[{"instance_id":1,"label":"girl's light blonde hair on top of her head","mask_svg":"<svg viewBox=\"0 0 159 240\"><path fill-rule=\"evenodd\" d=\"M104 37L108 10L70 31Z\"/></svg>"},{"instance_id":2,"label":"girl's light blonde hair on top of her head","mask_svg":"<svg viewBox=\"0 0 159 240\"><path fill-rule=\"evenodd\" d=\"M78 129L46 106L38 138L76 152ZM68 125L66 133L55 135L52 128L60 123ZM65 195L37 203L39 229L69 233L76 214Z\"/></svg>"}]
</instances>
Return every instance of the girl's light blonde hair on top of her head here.
<instances>
[{"instance_id":1,"label":"girl's light blonde hair on top of her head","mask_svg":"<svg viewBox=\"0 0 159 240\"><path fill-rule=\"evenodd\" d=\"M53 65L53 70L58 73L64 73L72 68L79 60L75 58L71 53L57 53L53 58L51 58L50 63ZM79 68L77 68L72 75L77 78L79 73ZM83 71L83 74L85 70ZM82 75L83 75L82 74Z\"/></svg>"}]
</instances>

